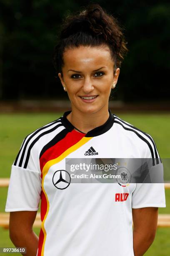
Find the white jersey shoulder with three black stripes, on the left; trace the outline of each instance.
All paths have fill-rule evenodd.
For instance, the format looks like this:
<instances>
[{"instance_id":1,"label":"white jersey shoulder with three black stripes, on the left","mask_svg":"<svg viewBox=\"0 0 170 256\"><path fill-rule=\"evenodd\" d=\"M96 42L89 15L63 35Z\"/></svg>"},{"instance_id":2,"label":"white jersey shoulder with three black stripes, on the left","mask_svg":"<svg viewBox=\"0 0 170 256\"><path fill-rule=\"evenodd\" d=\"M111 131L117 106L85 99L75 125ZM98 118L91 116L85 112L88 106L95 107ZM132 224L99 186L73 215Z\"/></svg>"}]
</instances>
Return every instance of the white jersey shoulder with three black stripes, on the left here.
<instances>
[{"instance_id":1,"label":"white jersey shoulder with three black stripes, on the left","mask_svg":"<svg viewBox=\"0 0 170 256\"><path fill-rule=\"evenodd\" d=\"M38 160L40 151L45 144L64 129L61 118L62 116L28 134L21 144L13 165L26 169L30 165L30 161Z\"/></svg>"}]
</instances>

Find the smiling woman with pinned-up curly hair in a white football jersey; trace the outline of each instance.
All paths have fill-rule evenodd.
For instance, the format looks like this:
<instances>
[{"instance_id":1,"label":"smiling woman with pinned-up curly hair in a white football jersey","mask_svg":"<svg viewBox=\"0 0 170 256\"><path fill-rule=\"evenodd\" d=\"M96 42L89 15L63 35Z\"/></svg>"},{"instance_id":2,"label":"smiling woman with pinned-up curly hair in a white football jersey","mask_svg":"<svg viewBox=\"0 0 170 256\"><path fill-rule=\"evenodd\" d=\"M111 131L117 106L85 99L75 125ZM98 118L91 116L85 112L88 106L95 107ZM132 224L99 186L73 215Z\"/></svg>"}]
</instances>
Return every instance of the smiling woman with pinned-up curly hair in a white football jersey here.
<instances>
[{"instance_id":1,"label":"smiling woman with pinned-up curly hair in a white football jersey","mask_svg":"<svg viewBox=\"0 0 170 256\"><path fill-rule=\"evenodd\" d=\"M24 139L5 208L10 238L27 255L140 256L153 243L164 184L76 183L66 170L66 158L159 158L150 135L108 109L126 51L120 27L100 5L63 24L54 63L71 110ZM40 199L38 239L32 225Z\"/></svg>"}]
</instances>

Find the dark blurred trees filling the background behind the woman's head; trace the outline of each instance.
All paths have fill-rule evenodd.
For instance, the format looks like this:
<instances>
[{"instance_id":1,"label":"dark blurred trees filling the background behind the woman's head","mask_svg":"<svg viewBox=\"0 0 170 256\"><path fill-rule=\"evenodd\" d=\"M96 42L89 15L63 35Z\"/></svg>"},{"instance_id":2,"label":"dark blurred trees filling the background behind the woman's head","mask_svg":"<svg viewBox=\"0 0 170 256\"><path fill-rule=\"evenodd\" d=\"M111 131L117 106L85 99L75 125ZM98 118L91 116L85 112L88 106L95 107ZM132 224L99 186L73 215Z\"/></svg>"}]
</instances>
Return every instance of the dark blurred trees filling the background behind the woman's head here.
<instances>
[{"instance_id":1,"label":"dark blurred trees filling the background behind the woman's head","mask_svg":"<svg viewBox=\"0 0 170 256\"><path fill-rule=\"evenodd\" d=\"M1 99L66 97L55 78L52 53L65 15L91 1L0 0ZM168 100L170 3L98 0L125 28L129 53L114 97L124 101ZM2 68L3 63L3 68Z\"/></svg>"}]
</instances>

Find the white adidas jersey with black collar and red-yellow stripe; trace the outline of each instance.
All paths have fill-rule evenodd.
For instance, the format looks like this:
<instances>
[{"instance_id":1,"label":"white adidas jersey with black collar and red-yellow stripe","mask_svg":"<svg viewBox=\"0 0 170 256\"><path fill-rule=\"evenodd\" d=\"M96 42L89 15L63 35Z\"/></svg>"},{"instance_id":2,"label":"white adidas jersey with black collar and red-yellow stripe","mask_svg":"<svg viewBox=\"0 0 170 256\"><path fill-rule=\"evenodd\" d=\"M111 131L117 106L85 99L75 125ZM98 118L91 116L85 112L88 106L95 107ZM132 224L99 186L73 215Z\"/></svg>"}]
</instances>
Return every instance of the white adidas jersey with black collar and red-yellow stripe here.
<instances>
[{"instance_id":1,"label":"white adidas jersey with black collar and red-yellow stripe","mask_svg":"<svg viewBox=\"0 0 170 256\"><path fill-rule=\"evenodd\" d=\"M61 181L60 186L55 174L63 178L66 158L160 159L155 142L110 109L103 125L81 133L67 120L70 112L24 139L12 165L5 211L37 211L41 200L37 256L134 256L132 208L166 207L164 184Z\"/></svg>"}]
</instances>

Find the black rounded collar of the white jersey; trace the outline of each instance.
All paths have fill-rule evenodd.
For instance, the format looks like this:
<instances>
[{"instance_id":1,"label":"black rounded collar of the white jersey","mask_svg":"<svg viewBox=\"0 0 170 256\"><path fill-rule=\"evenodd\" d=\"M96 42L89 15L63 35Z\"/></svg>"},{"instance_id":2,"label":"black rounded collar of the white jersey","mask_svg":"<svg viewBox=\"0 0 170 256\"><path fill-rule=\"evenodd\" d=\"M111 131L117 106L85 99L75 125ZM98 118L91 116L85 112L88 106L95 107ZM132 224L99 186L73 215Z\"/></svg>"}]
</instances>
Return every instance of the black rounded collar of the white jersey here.
<instances>
[{"instance_id":1,"label":"black rounded collar of the white jersey","mask_svg":"<svg viewBox=\"0 0 170 256\"><path fill-rule=\"evenodd\" d=\"M97 126L97 127L93 128L92 130L88 131L87 133L84 133L85 137L99 136L99 135L107 132L112 127L112 125L114 123L114 115L111 113L110 109L108 109L108 111L109 111L109 118L107 119L107 121L103 125ZM66 111L61 118L61 122L62 122L62 125L64 125L67 130L72 131L72 130L74 130L74 126L66 118L66 116L70 113L71 113L71 110ZM76 131L76 132L79 133L78 131Z\"/></svg>"}]
</instances>

